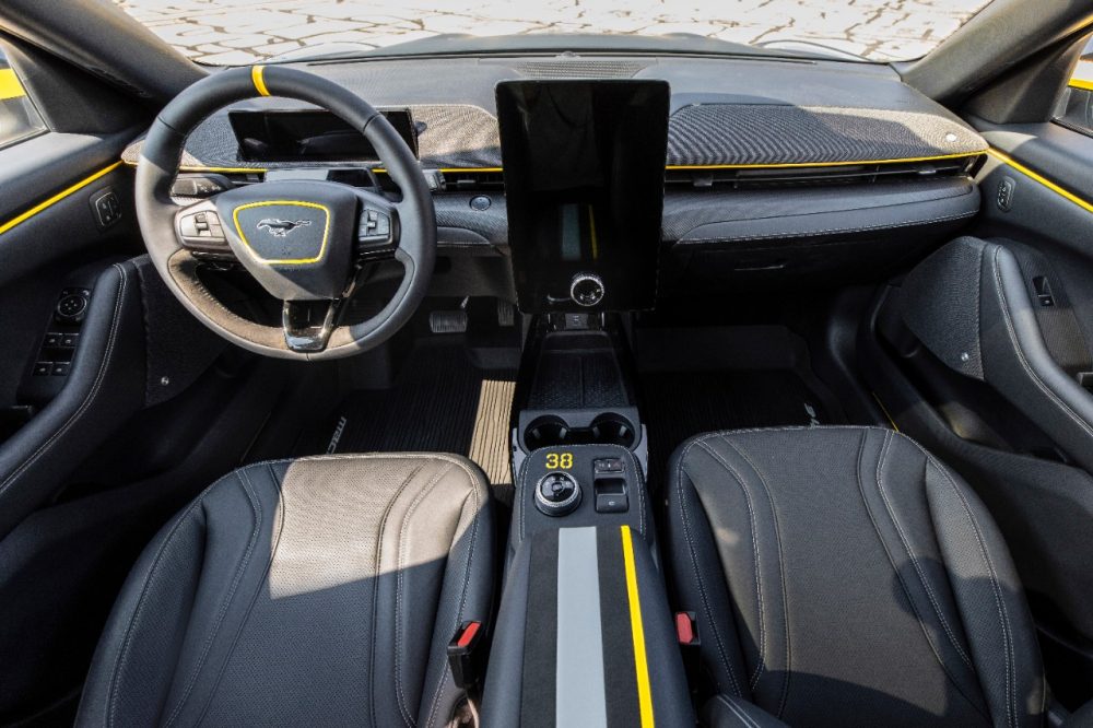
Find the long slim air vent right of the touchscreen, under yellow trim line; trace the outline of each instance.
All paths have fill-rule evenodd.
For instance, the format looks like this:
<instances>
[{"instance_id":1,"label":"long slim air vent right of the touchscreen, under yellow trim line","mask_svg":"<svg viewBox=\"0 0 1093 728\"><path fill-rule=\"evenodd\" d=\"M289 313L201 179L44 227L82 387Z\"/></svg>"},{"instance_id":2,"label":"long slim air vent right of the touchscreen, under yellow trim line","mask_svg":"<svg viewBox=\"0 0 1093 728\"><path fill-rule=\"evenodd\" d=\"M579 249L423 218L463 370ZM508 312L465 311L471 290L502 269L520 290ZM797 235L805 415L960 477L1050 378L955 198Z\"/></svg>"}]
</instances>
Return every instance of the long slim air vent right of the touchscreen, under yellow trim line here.
<instances>
[{"instance_id":1,"label":"long slim air vent right of the touchscreen, under yellow trim line","mask_svg":"<svg viewBox=\"0 0 1093 728\"><path fill-rule=\"evenodd\" d=\"M815 167L669 168L666 184L672 187L766 189L779 187L830 187L971 175L982 155L927 162L885 162Z\"/></svg>"}]
</instances>

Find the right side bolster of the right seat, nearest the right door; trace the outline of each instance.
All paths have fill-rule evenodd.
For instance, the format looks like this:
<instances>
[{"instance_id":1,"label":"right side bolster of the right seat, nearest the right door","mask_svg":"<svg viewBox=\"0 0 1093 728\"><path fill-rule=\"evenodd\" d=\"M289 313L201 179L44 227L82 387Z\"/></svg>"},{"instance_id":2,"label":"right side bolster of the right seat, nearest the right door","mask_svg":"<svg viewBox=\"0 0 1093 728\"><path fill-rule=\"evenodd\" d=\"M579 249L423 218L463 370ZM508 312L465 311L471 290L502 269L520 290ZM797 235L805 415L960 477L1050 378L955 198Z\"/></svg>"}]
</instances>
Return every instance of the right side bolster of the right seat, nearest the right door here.
<instances>
[{"instance_id":1,"label":"right side bolster of the right seat, nearest the right door","mask_svg":"<svg viewBox=\"0 0 1093 728\"><path fill-rule=\"evenodd\" d=\"M975 492L932 457L926 492L992 723L1041 726L1047 709L1044 666L1006 542Z\"/></svg>"}]
</instances>

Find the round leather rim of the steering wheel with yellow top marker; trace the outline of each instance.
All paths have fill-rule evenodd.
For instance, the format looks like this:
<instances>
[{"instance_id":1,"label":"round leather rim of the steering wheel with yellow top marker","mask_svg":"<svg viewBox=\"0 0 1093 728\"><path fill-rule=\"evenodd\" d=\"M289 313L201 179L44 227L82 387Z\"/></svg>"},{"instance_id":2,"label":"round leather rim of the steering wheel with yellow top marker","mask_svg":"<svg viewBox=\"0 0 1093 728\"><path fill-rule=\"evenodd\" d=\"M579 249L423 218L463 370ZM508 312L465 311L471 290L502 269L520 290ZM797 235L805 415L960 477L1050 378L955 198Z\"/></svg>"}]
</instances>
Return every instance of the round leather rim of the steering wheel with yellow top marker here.
<instances>
[{"instance_id":1,"label":"round leather rim of the steering wheel with yellow top marker","mask_svg":"<svg viewBox=\"0 0 1093 728\"><path fill-rule=\"evenodd\" d=\"M392 228L397 227L397 237L391 257L404 268L397 292L372 318L352 326L331 327L318 350L292 344L287 330L289 302L285 302L282 327L251 321L224 306L198 278L201 259L183 244L177 233L176 215L183 208L172 199L171 188L178 174L187 136L218 109L258 96L294 98L338 116L367 138L402 192L400 202L384 202L395 211ZM281 183L249 187L261 189L278 184ZM186 89L152 124L141 148L134 187L137 219L144 244L167 287L207 327L256 353L313 361L362 353L379 345L406 325L428 289L436 257L436 215L416 158L390 122L372 105L348 89L306 71L277 66L236 68L218 72ZM354 190L354 193L375 204L383 199L363 190ZM239 233L242 235L242 230ZM352 282L349 284L348 292L351 292ZM330 312L337 313L333 302L328 318Z\"/></svg>"}]
</instances>

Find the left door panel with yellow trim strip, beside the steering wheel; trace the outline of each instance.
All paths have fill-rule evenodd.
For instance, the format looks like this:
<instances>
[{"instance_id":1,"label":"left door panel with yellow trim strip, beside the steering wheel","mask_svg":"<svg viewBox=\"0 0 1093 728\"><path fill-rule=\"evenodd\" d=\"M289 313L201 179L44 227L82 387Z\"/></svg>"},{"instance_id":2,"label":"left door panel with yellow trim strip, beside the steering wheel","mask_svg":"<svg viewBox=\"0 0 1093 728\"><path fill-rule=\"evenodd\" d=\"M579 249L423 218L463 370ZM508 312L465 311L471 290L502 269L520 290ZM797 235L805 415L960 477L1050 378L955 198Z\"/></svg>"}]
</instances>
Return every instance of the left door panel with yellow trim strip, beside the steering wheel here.
<instances>
[{"instance_id":1,"label":"left door panel with yellow trim strip, beside the steering wheel","mask_svg":"<svg viewBox=\"0 0 1093 728\"><path fill-rule=\"evenodd\" d=\"M228 348L143 255L118 131L142 103L17 57L59 97L35 98L45 131L0 141L0 725L71 725L137 555L246 456L290 367Z\"/></svg>"}]
</instances>

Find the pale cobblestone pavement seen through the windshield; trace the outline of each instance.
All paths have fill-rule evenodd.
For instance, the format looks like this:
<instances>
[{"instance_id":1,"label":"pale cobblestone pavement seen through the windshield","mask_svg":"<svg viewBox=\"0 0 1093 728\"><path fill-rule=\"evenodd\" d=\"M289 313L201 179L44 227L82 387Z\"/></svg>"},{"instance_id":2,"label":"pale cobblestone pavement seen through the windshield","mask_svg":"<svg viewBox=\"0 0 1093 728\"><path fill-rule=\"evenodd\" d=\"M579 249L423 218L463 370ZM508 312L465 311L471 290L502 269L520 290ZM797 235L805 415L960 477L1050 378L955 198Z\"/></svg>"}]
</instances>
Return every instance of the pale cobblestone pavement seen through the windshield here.
<instances>
[{"instance_id":1,"label":"pale cobblestone pavement seen through the windshield","mask_svg":"<svg viewBox=\"0 0 1093 728\"><path fill-rule=\"evenodd\" d=\"M245 64L320 44L550 32L808 40L885 61L922 56L988 0L115 1L197 61Z\"/></svg>"}]
</instances>

